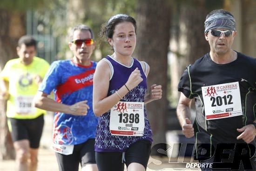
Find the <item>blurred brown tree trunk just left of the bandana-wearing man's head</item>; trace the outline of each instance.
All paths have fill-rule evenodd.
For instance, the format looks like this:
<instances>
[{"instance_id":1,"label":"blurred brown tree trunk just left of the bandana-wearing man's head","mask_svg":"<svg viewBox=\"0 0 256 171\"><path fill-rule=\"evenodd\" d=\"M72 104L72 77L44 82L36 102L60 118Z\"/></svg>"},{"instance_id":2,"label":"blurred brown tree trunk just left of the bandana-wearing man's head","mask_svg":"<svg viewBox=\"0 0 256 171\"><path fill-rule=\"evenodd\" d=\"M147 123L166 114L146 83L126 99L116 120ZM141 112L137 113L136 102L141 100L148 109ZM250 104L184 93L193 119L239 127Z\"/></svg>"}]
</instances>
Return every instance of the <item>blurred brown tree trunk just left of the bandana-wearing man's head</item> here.
<instances>
[{"instance_id":1,"label":"blurred brown tree trunk just left of the bandana-wearing man's head","mask_svg":"<svg viewBox=\"0 0 256 171\"><path fill-rule=\"evenodd\" d=\"M194 7L184 5L181 9L180 26L183 24L185 29L180 28L180 36L185 35L186 39L186 50L183 51L184 59L187 60L185 66L193 64L210 50L204 37L204 21L208 14L204 1L193 0Z\"/></svg>"}]
</instances>

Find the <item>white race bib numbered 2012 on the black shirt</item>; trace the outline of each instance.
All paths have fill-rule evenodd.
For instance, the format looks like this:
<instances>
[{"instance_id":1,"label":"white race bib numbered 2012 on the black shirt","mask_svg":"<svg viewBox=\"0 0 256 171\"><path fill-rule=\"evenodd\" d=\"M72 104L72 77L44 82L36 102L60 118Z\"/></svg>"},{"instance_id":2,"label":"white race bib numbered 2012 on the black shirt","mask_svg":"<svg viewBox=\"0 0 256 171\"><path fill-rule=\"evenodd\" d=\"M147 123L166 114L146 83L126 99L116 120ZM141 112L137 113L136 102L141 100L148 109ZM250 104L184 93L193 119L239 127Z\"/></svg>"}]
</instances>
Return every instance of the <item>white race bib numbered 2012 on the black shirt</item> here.
<instances>
[{"instance_id":1,"label":"white race bib numbered 2012 on the black shirt","mask_svg":"<svg viewBox=\"0 0 256 171\"><path fill-rule=\"evenodd\" d=\"M207 120L243 115L238 82L204 86L202 97Z\"/></svg>"}]
</instances>

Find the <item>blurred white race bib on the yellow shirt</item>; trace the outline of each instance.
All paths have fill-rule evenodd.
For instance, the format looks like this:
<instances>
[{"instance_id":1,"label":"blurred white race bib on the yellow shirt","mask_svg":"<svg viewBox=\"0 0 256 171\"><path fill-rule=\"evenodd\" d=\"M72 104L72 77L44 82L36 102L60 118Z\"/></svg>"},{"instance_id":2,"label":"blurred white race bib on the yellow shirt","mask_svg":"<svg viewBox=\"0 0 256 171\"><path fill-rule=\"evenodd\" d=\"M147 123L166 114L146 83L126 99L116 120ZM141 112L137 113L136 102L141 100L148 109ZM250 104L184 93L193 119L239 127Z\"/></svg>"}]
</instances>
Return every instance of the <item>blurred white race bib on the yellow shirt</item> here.
<instances>
[{"instance_id":1,"label":"blurred white race bib on the yellow shirt","mask_svg":"<svg viewBox=\"0 0 256 171\"><path fill-rule=\"evenodd\" d=\"M33 107L34 96L18 96L15 98L16 112L19 114L34 114L36 112Z\"/></svg>"}]
</instances>

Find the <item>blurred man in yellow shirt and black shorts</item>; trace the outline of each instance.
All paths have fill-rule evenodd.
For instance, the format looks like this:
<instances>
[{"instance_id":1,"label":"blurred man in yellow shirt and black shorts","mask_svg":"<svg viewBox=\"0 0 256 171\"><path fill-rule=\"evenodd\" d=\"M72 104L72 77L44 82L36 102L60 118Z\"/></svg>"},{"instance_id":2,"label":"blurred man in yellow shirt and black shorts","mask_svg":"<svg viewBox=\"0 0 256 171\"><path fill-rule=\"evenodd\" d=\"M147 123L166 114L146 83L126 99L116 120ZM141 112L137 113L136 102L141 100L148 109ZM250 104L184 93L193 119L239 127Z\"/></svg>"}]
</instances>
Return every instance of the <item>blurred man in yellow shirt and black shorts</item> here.
<instances>
[{"instance_id":1,"label":"blurred man in yellow shirt and black shorts","mask_svg":"<svg viewBox=\"0 0 256 171\"><path fill-rule=\"evenodd\" d=\"M17 54L19 58L9 60L0 72L0 98L7 99L17 170L35 171L46 111L34 108L32 102L49 64L35 57L36 40L31 36L19 39Z\"/></svg>"}]
</instances>

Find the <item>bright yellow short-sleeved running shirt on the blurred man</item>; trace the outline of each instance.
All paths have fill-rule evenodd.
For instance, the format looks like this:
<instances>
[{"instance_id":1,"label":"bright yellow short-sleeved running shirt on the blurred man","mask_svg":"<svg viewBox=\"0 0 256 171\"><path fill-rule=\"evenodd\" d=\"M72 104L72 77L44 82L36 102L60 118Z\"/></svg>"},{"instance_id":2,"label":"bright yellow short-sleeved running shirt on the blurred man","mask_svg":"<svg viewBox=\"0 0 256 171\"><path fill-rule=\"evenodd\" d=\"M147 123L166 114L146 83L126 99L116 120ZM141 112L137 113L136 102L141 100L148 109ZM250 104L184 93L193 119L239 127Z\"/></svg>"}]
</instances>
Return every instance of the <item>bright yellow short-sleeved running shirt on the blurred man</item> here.
<instances>
[{"instance_id":1,"label":"bright yellow short-sleeved running shirt on the blurred man","mask_svg":"<svg viewBox=\"0 0 256 171\"><path fill-rule=\"evenodd\" d=\"M46 111L33 107L32 101L38 89L35 77L44 78L48 68L47 61L38 57L34 57L28 66L23 65L19 58L7 62L0 78L9 82L8 118L33 119L46 114Z\"/></svg>"}]
</instances>

